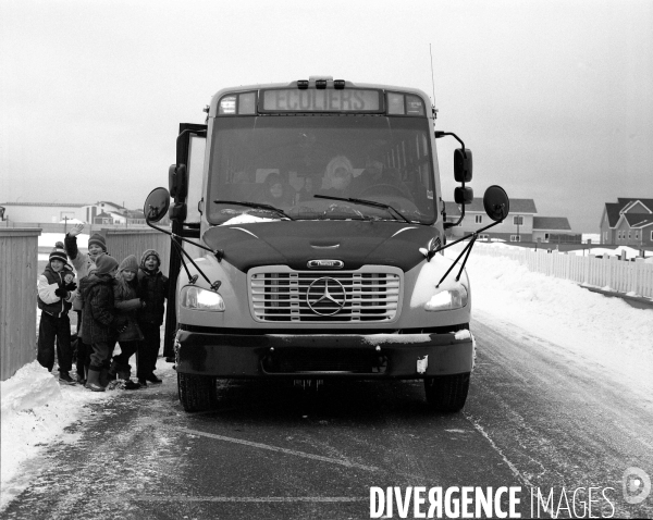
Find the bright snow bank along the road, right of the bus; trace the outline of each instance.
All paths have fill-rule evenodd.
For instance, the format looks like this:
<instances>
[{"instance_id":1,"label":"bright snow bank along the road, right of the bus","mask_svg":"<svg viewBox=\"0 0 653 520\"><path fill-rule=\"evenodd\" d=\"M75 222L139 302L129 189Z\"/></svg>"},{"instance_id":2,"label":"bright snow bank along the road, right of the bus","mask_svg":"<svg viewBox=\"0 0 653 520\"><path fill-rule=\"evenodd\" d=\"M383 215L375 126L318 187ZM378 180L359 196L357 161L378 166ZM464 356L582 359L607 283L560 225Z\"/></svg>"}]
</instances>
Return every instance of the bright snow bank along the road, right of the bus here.
<instances>
[{"instance_id":1,"label":"bright snow bank along the road, right of the bus","mask_svg":"<svg viewBox=\"0 0 653 520\"><path fill-rule=\"evenodd\" d=\"M651 398L653 310L530 272L506 257L483 256L480 248L467 271L472 317L508 334L522 330L545 339L556 355Z\"/></svg>"}]
</instances>

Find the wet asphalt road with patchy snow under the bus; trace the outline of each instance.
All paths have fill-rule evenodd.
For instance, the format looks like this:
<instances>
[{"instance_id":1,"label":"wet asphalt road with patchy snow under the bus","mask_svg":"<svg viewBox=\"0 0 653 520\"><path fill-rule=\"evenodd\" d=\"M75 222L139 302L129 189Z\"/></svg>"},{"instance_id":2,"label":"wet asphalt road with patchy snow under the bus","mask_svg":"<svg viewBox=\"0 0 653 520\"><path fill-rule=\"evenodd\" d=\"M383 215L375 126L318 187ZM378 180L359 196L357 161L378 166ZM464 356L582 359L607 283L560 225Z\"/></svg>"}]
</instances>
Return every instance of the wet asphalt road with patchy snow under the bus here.
<instances>
[{"instance_id":1,"label":"wet asphalt road with patchy snow under the bus","mask_svg":"<svg viewBox=\"0 0 653 520\"><path fill-rule=\"evenodd\" d=\"M370 486L409 485L520 485L523 517L537 515L531 486L569 506L577 488L612 487L593 516L651 518L652 497L621 495L626 468L653 473L651 400L482 312L473 330L478 366L454 416L430 412L414 382L317 395L229 382L218 410L187 414L169 371L160 387L90 405L76 442L29 462L32 483L3 518L369 518Z\"/></svg>"}]
</instances>

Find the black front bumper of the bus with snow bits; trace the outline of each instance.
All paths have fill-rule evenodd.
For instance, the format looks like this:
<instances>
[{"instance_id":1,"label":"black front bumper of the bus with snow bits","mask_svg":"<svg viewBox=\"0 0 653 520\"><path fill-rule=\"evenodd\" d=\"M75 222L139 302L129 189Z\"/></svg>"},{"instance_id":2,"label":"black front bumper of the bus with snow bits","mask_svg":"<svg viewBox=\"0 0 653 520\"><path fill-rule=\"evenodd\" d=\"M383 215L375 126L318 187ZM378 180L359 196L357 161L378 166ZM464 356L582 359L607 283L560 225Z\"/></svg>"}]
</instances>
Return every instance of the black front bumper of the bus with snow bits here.
<instances>
[{"instance_id":1,"label":"black front bumper of the bus with snow bits","mask_svg":"<svg viewBox=\"0 0 653 520\"><path fill-rule=\"evenodd\" d=\"M443 334L221 334L180 330L176 371L224 379L422 379L471 372L467 330Z\"/></svg>"}]
</instances>

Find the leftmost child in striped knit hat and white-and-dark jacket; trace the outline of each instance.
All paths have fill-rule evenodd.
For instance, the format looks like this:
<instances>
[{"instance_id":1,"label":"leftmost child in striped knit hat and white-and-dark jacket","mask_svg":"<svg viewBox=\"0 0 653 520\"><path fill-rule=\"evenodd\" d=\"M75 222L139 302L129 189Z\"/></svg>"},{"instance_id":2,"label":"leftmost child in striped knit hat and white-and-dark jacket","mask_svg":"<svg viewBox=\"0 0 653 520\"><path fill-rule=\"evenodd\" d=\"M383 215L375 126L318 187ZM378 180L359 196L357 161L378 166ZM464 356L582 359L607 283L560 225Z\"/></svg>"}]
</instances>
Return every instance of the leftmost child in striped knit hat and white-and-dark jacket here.
<instances>
[{"instance_id":1,"label":"leftmost child in striped knit hat and white-and-dark jacket","mask_svg":"<svg viewBox=\"0 0 653 520\"><path fill-rule=\"evenodd\" d=\"M74 385L70 375L72 368L71 320L67 312L76 296L72 268L67 265L65 251L52 249L48 265L38 277L38 308L41 310L38 325L38 362L50 372L54 367L54 343L59 360L59 381ZM67 270L64 268L67 265ZM72 276L71 276L72 275ZM67 280L67 282L66 282Z\"/></svg>"}]
</instances>

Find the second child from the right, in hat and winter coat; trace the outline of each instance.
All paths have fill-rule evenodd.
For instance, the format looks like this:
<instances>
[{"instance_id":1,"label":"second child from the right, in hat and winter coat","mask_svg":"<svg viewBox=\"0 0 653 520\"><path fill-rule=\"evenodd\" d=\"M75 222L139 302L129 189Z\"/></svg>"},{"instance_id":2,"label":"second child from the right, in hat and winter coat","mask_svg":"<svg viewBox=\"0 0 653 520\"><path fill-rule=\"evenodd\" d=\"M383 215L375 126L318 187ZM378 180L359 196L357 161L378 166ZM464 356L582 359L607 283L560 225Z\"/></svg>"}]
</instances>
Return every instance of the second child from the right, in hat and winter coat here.
<instances>
[{"instance_id":1,"label":"second child from the right, in hat and winter coat","mask_svg":"<svg viewBox=\"0 0 653 520\"><path fill-rule=\"evenodd\" d=\"M110 376L118 374L118 379L124 380L125 389L136 389L140 385L131 380L132 367L130 358L138 349L138 343L143 339L143 333L138 327L136 312L143 309L144 301L138 298L138 261L134 255L125 258L118 268L115 284L113 285L113 302L116 312L116 327L119 331L118 343L120 355L113 357Z\"/></svg>"}]
</instances>

